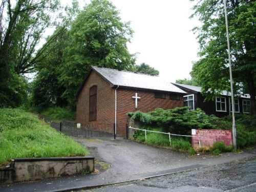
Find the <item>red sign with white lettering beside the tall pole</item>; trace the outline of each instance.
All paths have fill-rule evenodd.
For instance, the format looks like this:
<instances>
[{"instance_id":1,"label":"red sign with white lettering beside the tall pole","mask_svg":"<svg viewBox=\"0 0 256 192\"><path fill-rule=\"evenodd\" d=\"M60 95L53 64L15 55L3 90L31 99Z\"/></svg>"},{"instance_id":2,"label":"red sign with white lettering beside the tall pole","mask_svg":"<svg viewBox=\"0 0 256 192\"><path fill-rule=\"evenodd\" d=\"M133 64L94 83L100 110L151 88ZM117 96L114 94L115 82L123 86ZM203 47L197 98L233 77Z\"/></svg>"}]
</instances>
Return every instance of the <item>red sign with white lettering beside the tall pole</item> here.
<instances>
[{"instance_id":1,"label":"red sign with white lettering beside the tall pole","mask_svg":"<svg viewBox=\"0 0 256 192\"><path fill-rule=\"evenodd\" d=\"M232 132L230 130L192 130L192 146L211 147L215 142L223 141L225 145L231 145ZM201 145L201 146L200 146Z\"/></svg>"}]
</instances>

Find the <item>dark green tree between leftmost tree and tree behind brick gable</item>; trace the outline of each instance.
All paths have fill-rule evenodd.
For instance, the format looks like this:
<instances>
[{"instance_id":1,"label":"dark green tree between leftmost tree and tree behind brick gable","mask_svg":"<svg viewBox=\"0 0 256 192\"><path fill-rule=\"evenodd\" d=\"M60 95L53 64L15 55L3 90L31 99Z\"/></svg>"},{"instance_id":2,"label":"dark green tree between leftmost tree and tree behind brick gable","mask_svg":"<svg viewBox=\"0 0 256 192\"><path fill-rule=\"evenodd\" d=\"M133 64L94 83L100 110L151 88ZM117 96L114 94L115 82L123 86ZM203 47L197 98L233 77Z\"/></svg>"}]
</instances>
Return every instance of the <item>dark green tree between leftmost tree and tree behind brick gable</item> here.
<instances>
[{"instance_id":1,"label":"dark green tree between leftmost tree and tree behind brick gable","mask_svg":"<svg viewBox=\"0 0 256 192\"><path fill-rule=\"evenodd\" d=\"M60 22L55 32L47 38L43 46L44 51L38 51L41 58L36 65L37 75L33 81L31 103L40 109L50 106L67 106L67 99L61 97L65 87L61 84L61 66L63 65L64 50L68 45L69 28L79 12L77 1L72 7L65 8L65 14L60 17ZM52 41L54 39L54 41Z\"/></svg>"}]
</instances>

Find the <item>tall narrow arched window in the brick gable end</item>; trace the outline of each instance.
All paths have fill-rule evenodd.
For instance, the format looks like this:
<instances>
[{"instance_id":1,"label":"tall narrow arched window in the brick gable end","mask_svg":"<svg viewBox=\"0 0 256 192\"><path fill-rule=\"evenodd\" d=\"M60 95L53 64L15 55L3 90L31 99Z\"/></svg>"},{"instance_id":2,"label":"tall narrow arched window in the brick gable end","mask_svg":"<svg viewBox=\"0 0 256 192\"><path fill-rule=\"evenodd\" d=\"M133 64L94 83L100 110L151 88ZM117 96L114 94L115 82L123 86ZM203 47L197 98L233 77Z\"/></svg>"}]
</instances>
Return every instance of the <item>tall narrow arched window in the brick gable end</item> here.
<instances>
[{"instance_id":1,"label":"tall narrow arched window in the brick gable end","mask_svg":"<svg viewBox=\"0 0 256 192\"><path fill-rule=\"evenodd\" d=\"M97 86L90 88L89 98L89 121L97 119Z\"/></svg>"}]
</instances>

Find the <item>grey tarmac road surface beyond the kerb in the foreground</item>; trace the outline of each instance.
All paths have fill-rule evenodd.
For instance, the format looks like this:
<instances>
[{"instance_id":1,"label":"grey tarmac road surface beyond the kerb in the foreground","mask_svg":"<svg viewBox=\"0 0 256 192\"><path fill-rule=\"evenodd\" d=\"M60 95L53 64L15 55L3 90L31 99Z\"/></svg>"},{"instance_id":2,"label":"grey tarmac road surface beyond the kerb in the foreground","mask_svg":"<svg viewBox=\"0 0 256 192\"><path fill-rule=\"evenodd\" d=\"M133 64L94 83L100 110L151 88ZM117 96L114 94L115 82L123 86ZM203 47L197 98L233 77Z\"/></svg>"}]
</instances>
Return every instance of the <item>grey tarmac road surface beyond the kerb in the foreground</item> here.
<instances>
[{"instance_id":1,"label":"grey tarmac road surface beyond the kerb in the foreground","mask_svg":"<svg viewBox=\"0 0 256 192\"><path fill-rule=\"evenodd\" d=\"M254 192L256 191L256 158L198 168L183 173L170 174L147 180L81 191Z\"/></svg>"}]
</instances>

